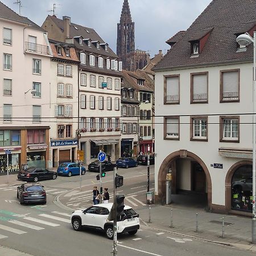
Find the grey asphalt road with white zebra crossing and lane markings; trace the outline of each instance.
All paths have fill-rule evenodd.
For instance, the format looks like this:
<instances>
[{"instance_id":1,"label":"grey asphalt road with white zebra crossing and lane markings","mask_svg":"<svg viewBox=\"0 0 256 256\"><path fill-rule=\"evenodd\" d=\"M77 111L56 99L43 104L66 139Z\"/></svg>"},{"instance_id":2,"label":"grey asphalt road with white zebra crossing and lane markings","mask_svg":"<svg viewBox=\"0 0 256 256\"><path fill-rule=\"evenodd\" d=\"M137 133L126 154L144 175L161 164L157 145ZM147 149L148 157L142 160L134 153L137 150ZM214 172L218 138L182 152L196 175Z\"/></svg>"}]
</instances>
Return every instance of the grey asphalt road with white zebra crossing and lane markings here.
<instances>
[{"instance_id":1,"label":"grey asphalt road with white zebra crossing and lane markings","mask_svg":"<svg viewBox=\"0 0 256 256\"><path fill-rule=\"evenodd\" d=\"M146 189L146 168L143 168L118 170L119 174L125 176L125 185L119 190L123 190L122 193L125 195L135 193L137 196L135 198L142 202L145 200ZM97 184L95 176L87 173L82 177L85 191L92 189L94 183ZM35 256L112 255L113 241L105 238L104 233L92 229L75 232L69 222L72 210L60 208L53 203L56 196L65 195L71 189L79 188L79 179L79 176L74 176L42 181L46 191L49 191L46 205L20 205L16 201L15 186L0 187L0 244ZM104 181L110 191L111 180L113 178L107 175ZM154 187L154 184L151 186ZM70 199L71 197L67 197L67 201L71 201ZM136 200L130 201L134 204L137 202L137 207L134 206L134 209L145 207ZM90 205L90 202L83 201L82 204ZM120 256L241 254L254 255L249 251L159 232L143 223L135 236L129 234L118 236Z\"/></svg>"}]
</instances>

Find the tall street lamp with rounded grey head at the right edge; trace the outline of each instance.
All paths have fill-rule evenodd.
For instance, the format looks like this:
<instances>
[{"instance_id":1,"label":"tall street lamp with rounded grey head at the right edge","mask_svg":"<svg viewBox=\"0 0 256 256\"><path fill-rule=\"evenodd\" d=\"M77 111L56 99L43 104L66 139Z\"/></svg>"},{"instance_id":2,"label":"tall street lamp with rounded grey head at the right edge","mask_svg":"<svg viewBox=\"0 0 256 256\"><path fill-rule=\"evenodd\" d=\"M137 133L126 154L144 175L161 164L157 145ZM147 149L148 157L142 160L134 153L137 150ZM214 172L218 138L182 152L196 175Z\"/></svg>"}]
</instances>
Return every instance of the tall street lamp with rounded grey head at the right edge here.
<instances>
[{"instance_id":1,"label":"tall street lamp with rounded grey head at the right edge","mask_svg":"<svg viewBox=\"0 0 256 256\"><path fill-rule=\"evenodd\" d=\"M253 43L253 221L251 223L251 242L256 243L256 208L255 208L255 199L256 199L256 187L255 187L255 177L256 177L256 31L253 32L253 38L248 34L242 34L237 37L237 43L242 47L249 46Z\"/></svg>"}]
</instances>

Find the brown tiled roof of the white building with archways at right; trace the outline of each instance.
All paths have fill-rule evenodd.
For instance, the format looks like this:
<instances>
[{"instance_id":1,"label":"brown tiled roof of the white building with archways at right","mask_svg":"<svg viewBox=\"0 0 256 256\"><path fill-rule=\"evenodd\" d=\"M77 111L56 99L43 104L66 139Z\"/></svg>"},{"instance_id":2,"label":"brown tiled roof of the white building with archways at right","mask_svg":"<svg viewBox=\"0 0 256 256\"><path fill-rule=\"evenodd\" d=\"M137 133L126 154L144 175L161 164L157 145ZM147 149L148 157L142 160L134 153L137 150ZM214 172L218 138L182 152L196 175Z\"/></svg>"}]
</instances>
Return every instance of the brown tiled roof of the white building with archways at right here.
<instances>
[{"instance_id":1,"label":"brown tiled roof of the white building with archways at right","mask_svg":"<svg viewBox=\"0 0 256 256\"><path fill-rule=\"evenodd\" d=\"M236 52L236 32L256 20L255 0L213 0L191 24L183 37L168 51L154 71L218 63L253 61L253 45ZM202 30L213 28L198 57L191 57L189 40Z\"/></svg>"}]
</instances>

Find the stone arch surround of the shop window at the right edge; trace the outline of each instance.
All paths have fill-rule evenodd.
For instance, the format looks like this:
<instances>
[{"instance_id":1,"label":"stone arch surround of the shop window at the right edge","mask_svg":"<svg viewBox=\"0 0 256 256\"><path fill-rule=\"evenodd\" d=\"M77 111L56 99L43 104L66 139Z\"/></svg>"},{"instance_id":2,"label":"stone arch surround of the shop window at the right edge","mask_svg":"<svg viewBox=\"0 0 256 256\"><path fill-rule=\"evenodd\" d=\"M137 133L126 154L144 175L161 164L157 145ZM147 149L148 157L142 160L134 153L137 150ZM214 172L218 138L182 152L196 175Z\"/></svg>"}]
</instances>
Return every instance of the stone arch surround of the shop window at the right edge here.
<instances>
[{"instance_id":1,"label":"stone arch surround of the shop window at the right edge","mask_svg":"<svg viewBox=\"0 0 256 256\"><path fill-rule=\"evenodd\" d=\"M241 166L244 166L246 164L253 164L253 161L250 160L242 160L240 162L237 162L233 164L232 167L229 168L227 174L226 174L226 179L225 179L225 211L231 212L231 197L232 197L232 177L234 175L234 172ZM243 213L243 215L246 215ZM251 214L250 214L251 216Z\"/></svg>"}]
</instances>

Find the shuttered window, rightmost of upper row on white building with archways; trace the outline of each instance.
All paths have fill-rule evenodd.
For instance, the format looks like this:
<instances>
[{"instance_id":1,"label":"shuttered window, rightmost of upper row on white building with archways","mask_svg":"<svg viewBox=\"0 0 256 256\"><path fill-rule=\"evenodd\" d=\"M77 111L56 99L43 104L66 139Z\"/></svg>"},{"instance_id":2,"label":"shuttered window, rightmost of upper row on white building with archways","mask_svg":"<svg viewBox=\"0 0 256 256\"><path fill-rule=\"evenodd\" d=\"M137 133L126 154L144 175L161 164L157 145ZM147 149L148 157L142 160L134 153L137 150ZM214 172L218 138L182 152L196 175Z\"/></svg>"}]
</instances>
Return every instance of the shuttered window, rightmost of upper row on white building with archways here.
<instances>
[{"instance_id":1,"label":"shuttered window, rightmost of upper row on white building with archways","mask_svg":"<svg viewBox=\"0 0 256 256\"><path fill-rule=\"evenodd\" d=\"M240 100L240 69L221 71L220 102Z\"/></svg>"}]
</instances>

